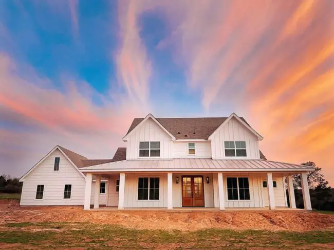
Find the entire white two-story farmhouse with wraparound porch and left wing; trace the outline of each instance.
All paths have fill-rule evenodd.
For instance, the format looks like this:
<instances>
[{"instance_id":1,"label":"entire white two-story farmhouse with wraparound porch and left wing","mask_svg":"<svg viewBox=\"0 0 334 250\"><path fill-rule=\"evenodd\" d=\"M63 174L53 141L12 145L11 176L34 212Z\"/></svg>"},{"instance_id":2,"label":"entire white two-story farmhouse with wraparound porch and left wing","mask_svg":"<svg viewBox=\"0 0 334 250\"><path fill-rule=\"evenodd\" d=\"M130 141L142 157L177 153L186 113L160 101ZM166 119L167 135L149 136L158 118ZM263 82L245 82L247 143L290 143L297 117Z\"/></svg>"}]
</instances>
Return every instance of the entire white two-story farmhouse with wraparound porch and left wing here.
<instances>
[{"instance_id":1,"label":"entire white two-story farmhouse with wraparound porch and left wing","mask_svg":"<svg viewBox=\"0 0 334 250\"><path fill-rule=\"evenodd\" d=\"M134 119L113 159L87 159L57 146L29 170L21 205L100 205L118 209L269 207L295 209L292 175L300 174L311 210L310 166L270 161L263 137L232 113L220 118ZM285 178L289 195L285 191Z\"/></svg>"}]
</instances>

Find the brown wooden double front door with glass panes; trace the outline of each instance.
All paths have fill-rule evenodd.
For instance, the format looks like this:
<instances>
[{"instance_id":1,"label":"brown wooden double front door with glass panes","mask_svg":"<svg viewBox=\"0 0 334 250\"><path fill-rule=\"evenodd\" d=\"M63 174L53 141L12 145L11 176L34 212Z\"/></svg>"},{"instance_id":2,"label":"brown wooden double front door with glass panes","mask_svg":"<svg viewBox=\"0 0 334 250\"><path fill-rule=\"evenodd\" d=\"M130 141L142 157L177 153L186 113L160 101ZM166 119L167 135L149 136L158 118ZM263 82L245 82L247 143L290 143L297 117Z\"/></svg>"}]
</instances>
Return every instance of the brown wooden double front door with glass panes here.
<instances>
[{"instance_id":1,"label":"brown wooden double front door with glass panes","mask_svg":"<svg viewBox=\"0 0 334 250\"><path fill-rule=\"evenodd\" d=\"M204 206L203 176L182 176L182 206Z\"/></svg>"}]
</instances>

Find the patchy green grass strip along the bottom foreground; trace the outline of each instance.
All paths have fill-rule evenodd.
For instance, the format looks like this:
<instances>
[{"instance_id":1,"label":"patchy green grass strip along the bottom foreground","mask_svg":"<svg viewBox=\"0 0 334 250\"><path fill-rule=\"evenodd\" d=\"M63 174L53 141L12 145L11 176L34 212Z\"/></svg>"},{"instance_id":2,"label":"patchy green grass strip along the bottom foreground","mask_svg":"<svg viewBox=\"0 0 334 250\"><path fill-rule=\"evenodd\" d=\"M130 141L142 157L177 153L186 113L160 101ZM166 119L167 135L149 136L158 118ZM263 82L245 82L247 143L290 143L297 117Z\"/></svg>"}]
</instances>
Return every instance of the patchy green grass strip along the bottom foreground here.
<instances>
[{"instance_id":1,"label":"patchy green grass strip along the bottom foreground","mask_svg":"<svg viewBox=\"0 0 334 250\"><path fill-rule=\"evenodd\" d=\"M246 249L250 247L321 249L334 243L334 232L269 232L199 230L194 232L133 230L113 225L89 223L7 223L0 231L1 244L6 248L25 249L78 248L86 249L149 249L160 246L164 249ZM323 244L323 245L322 245Z\"/></svg>"}]
</instances>

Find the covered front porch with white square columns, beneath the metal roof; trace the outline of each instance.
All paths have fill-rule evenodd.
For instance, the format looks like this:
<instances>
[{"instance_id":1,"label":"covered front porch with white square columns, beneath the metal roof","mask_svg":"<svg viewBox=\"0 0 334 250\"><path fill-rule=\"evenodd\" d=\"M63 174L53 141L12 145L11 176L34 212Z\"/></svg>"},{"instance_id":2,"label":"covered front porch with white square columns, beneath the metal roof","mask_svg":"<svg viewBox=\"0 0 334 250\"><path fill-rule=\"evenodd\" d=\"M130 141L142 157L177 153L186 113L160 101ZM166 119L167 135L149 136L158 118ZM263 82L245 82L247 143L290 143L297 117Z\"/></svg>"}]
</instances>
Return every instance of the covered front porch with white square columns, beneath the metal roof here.
<instances>
[{"instance_id":1,"label":"covered front porch with white square columns, beneath the metal roof","mask_svg":"<svg viewBox=\"0 0 334 250\"><path fill-rule=\"evenodd\" d=\"M310 211L306 173L299 172L302 177L305 210ZM292 174L298 174L298 172L87 172L84 210L90 210L90 204L94 204L94 211L259 212L276 210L300 212L301 210L295 207ZM91 184L93 176L95 183ZM192 177L201 178L195 183L196 180ZM114 187L118 192L113 195L107 194L108 198L111 198L104 207L100 207L99 192L91 195L92 185L95 191L100 190L101 178L107 179L110 185L118 184ZM185 178L191 180L190 185L185 183L187 180ZM288 196L285 178L288 182ZM241 184L241 179L245 183ZM235 183L232 183L233 181ZM266 186L264 186L265 182ZM109 186L108 190L111 188ZM287 207L288 199L290 207ZM192 203L187 203L189 201Z\"/></svg>"}]
</instances>

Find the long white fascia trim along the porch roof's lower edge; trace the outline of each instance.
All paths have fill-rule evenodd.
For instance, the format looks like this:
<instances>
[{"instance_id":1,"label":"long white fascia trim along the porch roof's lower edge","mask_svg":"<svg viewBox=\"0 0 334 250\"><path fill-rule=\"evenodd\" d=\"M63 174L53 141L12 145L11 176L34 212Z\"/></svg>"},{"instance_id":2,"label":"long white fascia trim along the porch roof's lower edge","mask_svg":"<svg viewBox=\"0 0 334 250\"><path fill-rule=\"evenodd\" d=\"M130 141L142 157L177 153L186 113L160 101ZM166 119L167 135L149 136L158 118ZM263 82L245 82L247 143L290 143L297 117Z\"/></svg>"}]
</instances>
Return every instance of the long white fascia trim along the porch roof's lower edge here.
<instances>
[{"instance_id":1,"label":"long white fascia trim along the porch roof's lower edge","mask_svg":"<svg viewBox=\"0 0 334 250\"><path fill-rule=\"evenodd\" d=\"M84 173L94 172L116 172L116 173L127 173L127 172L308 172L314 171L314 169L80 169Z\"/></svg>"}]
</instances>

